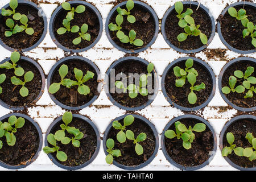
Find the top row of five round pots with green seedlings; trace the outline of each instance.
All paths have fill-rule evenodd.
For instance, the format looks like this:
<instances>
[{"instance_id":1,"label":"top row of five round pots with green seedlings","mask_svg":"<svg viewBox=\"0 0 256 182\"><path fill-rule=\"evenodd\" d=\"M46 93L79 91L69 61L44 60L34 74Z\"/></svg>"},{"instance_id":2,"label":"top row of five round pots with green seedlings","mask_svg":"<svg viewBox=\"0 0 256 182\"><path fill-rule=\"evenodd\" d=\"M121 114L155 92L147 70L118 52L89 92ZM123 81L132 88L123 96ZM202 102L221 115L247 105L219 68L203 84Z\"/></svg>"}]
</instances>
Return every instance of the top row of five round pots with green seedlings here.
<instances>
[{"instance_id":1,"label":"top row of five round pots with green seedlings","mask_svg":"<svg viewBox=\"0 0 256 182\"><path fill-rule=\"evenodd\" d=\"M9 49L36 48L47 32L47 19L32 2L10 0L0 11L0 44ZM237 2L217 19L222 43L234 52L253 53L256 47L255 3ZM53 42L67 52L82 52L96 45L103 31L100 12L88 2L63 2L53 12L49 33ZM126 53L150 47L159 31L155 11L141 1L114 6L106 19L106 35L113 46ZM212 42L215 22L209 10L197 2L176 2L164 14L162 35L178 52L200 52ZM15 41L19 40L19 41Z\"/></svg>"}]
</instances>

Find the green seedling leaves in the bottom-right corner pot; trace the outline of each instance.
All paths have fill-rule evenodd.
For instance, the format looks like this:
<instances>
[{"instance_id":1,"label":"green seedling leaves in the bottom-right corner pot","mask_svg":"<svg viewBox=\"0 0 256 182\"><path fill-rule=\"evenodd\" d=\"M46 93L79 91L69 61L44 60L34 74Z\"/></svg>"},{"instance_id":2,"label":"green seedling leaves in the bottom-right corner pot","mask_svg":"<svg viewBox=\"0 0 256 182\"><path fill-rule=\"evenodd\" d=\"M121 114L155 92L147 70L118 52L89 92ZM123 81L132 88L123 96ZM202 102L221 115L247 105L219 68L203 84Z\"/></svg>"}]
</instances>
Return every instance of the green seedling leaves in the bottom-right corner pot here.
<instances>
[{"instance_id":1,"label":"green seedling leaves in the bottom-right corner pot","mask_svg":"<svg viewBox=\"0 0 256 182\"><path fill-rule=\"evenodd\" d=\"M252 147L246 147L246 148L236 147L236 144L233 144L234 143L233 133L227 133L226 140L228 141L230 146L229 147L226 146L222 149L221 151L222 156L228 156L229 154L232 154L232 151L234 151L234 154L238 156L245 156L250 161L255 160L256 159L256 138L253 137L252 133L247 133L245 138L252 145Z\"/></svg>"}]
</instances>

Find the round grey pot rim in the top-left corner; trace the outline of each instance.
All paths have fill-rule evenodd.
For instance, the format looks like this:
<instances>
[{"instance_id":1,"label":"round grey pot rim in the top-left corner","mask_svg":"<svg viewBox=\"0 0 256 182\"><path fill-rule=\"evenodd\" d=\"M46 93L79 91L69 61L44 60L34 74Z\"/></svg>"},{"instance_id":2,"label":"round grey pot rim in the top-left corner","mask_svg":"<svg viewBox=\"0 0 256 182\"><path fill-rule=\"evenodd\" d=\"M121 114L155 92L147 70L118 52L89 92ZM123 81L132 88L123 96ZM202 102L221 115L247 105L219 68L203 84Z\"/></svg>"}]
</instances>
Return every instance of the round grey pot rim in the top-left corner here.
<instances>
[{"instance_id":1,"label":"round grey pot rim in the top-left corner","mask_svg":"<svg viewBox=\"0 0 256 182\"><path fill-rule=\"evenodd\" d=\"M18 0L18 5L19 4L26 4L28 6L32 6L34 7L36 10L39 11L42 11L43 12L43 9L39 8L38 5L36 5L34 2L30 2L30 1L26 1L26 0ZM7 3L5 6L3 6L2 8L7 8L9 7L9 3ZM0 9L0 15L2 13L2 9ZM42 13L41 13L42 14ZM44 13L43 13L44 14ZM2 16L2 15L1 15ZM23 48L21 49L22 52L27 52L27 51L31 51L32 49L36 48L39 46L40 43L42 43L42 41L44 40L44 38L46 37L46 33L47 33L47 26L48 26L48 23L47 23L47 18L46 16L42 16L43 18L43 23L44 23L44 31L43 31L43 34L41 36L41 38L38 40L38 42L36 42L35 44L33 44L31 47L28 47L28 48ZM0 39L0 45L4 48L6 48L7 50L9 51L15 51L14 48L11 48L9 46L7 46L5 43L3 43L2 39Z\"/></svg>"}]
</instances>

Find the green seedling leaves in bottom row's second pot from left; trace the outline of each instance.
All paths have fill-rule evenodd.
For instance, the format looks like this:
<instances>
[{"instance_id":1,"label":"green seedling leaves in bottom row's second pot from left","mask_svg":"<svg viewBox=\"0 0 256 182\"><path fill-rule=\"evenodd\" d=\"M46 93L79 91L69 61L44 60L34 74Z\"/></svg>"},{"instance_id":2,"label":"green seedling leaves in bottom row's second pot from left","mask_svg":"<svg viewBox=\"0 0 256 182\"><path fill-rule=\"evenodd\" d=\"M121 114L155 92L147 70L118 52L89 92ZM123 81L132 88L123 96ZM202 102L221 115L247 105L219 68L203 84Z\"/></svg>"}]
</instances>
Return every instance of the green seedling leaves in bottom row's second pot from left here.
<instances>
[{"instance_id":1,"label":"green seedling leaves in bottom row's second pot from left","mask_svg":"<svg viewBox=\"0 0 256 182\"><path fill-rule=\"evenodd\" d=\"M69 123L72 122L73 115L71 112L65 112L62 117L62 121L65 124L61 124L61 130L58 130L55 132L55 134L49 134L47 136L47 141L54 147L44 147L43 150L46 152L46 154L57 152L56 158L60 160L61 162L64 162L67 160L67 154L63 151L59 151L60 147L57 146L57 141L61 142L62 144L69 144L72 142L72 145L74 147L80 147L80 139L84 137L84 133L82 133L79 129L76 129L75 127L68 126ZM67 131L69 134L74 135L74 137L69 138L65 137L65 131Z\"/></svg>"}]
</instances>

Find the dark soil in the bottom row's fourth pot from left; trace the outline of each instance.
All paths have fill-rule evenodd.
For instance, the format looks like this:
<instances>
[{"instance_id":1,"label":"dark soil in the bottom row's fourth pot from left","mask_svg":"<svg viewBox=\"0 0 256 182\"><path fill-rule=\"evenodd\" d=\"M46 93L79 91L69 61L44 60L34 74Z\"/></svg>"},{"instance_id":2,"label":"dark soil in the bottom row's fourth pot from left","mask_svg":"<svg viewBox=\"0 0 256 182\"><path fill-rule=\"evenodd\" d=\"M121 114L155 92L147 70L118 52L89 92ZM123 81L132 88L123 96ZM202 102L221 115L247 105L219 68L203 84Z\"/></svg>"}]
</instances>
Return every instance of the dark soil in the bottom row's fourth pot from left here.
<instances>
[{"instance_id":1,"label":"dark soil in the bottom row's fourth pot from left","mask_svg":"<svg viewBox=\"0 0 256 182\"><path fill-rule=\"evenodd\" d=\"M195 126L196 123L200 123L195 119L180 119L187 128L189 126ZM169 130L175 130L175 125L172 124ZM196 167L203 164L209 159L209 152L213 151L214 139L213 134L208 127L203 132L197 133L193 131L196 135L195 140L192 143L192 147L187 150L183 147L182 139L168 139L164 138L164 144L168 155L176 163L185 167Z\"/></svg>"}]
</instances>

